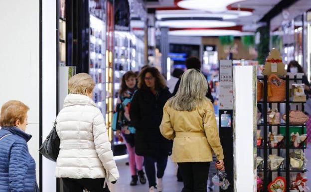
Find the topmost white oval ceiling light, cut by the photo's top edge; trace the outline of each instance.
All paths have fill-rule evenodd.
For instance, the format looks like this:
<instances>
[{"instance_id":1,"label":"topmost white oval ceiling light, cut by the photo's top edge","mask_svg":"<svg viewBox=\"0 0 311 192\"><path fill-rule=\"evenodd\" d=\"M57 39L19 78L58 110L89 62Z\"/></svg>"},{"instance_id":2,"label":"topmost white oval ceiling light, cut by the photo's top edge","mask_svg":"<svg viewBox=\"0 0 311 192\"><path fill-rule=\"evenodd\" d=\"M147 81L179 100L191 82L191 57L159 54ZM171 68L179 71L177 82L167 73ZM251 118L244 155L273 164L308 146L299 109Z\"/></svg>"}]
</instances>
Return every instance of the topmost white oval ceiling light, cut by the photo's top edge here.
<instances>
[{"instance_id":1,"label":"topmost white oval ceiling light, cut by the photo's top edge","mask_svg":"<svg viewBox=\"0 0 311 192\"><path fill-rule=\"evenodd\" d=\"M228 5L238 1L241 0L181 0L177 3L177 5L187 9L222 12L227 10Z\"/></svg>"}]
</instances>

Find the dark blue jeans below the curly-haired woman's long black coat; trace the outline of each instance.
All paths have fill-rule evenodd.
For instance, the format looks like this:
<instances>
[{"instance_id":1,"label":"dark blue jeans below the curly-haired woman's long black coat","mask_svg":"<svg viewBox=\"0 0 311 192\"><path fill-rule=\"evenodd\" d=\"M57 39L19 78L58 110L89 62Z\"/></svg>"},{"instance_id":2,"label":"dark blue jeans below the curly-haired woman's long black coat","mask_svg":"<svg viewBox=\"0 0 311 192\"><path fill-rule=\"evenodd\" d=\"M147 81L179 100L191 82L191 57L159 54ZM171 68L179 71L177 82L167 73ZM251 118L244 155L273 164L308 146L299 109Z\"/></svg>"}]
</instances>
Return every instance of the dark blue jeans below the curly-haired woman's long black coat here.
<instances>
[{"instance_id":1,"label":"dark blue jeans below the curly-haired woman's long black coat","mask_svg":"<svg viewBox=\"0 0 311 192\"><path fill-rule=\"evenodd\" d=\"M145 171L149 183L149 187L156 186L155 181L155 163L156 163L156 177L161 179L164 176L164 171L167 165L167 156L159 157L157 159L145 156Z\"/></svg>"}]
</instances>

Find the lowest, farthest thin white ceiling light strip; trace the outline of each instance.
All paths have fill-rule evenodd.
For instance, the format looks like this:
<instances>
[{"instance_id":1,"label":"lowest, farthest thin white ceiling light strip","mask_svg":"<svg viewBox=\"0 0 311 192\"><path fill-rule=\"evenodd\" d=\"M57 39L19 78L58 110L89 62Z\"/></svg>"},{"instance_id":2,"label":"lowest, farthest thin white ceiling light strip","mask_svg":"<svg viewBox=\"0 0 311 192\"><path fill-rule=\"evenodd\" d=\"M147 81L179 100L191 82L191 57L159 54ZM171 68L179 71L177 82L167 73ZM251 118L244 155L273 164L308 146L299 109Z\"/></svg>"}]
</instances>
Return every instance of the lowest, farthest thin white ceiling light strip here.
<instances>
[{"instance_id":1,"label":"lowest, farthest thin white ceiling light strip","mask_svg":"<svg viewBox=\"0 0 311 192\"><path fill-rule=\"evenodd\" d=\"M243 35L254 35L253 32L241 32L239 30L224 30L224 29L186 29L186 30L173 30L168 32L169 35L175 36L243 36Z\"/></svg>"}]
</instances>

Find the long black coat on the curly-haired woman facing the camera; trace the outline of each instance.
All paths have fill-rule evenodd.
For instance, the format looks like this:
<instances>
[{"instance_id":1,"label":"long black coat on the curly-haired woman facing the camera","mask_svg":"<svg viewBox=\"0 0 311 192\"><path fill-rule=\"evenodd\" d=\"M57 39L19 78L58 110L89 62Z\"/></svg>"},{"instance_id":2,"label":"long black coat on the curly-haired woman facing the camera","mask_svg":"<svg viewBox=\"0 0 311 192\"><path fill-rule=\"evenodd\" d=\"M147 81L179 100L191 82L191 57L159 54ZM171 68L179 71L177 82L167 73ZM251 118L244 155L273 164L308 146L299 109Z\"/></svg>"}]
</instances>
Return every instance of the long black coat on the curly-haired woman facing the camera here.
<instances>
[{"instance_id":1,"label":"long black coat on the curly-haired woman facing the camera","mask_svg":"<svg viewBox=\"0 0 311 192\"><path fill-rule=\"evenodd\" d=\"M131 103L131 123L136 128L135 152L140 156L158 158L171 154L172 141L160 133L163 107L171 97L167 88L154 95L149 88L139 89Z\"/></svg>"}]
</instances>

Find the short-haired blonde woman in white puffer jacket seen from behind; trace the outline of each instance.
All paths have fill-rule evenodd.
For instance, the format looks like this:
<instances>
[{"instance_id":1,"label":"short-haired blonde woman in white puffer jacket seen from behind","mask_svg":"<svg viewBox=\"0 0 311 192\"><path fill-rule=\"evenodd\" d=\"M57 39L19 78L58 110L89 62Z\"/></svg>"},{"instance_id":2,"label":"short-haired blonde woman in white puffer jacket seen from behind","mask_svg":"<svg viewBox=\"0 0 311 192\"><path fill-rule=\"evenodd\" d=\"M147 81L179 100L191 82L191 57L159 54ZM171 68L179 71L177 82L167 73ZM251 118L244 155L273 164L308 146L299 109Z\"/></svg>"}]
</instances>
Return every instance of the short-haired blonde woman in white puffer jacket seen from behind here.
<instances>
[{"instance_id":1,"label":"short-haired blonde woman in white puffer jacket seen from behind","mask_svg":"<svg viewBox=\"0 0 311 192\"><path fill-rule=\"evenodd\" d=\"M62 178L66 192L83 192L84 188L109 192L106 182L114 184L119 178L104 117L91 99L94 87L90 75L73 76L70 94L56 119L60 138L56 177Z\"/></svg>"}]
</instances>

